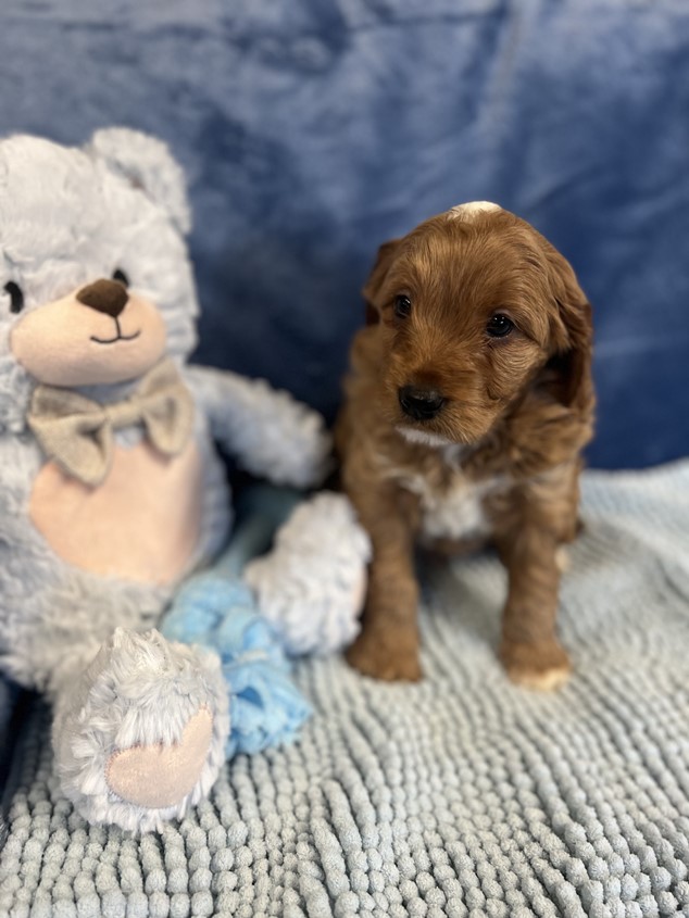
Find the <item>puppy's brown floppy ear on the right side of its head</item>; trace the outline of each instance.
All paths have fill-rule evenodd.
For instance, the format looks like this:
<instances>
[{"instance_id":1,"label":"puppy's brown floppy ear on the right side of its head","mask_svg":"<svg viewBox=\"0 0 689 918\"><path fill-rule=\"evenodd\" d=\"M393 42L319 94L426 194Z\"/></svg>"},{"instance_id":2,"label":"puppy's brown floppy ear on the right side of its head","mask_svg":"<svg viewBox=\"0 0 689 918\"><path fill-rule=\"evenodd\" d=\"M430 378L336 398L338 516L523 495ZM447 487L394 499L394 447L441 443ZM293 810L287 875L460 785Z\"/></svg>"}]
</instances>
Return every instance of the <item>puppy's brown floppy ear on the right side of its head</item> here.
<instances>
[{"instance_id":1,"label":"puppy's brown floppy ear on the right side of its head","mask_svg":"<svg viewBox=\"0 0 689 918\"><path fill-rule=\"evenodd\" d=\"M551 332L554 353L546 365L543 382L561 404L586 408L593 397L591 305L566 259L550 243L546 255L558 315Z\"/></svg>"}]
</instances>

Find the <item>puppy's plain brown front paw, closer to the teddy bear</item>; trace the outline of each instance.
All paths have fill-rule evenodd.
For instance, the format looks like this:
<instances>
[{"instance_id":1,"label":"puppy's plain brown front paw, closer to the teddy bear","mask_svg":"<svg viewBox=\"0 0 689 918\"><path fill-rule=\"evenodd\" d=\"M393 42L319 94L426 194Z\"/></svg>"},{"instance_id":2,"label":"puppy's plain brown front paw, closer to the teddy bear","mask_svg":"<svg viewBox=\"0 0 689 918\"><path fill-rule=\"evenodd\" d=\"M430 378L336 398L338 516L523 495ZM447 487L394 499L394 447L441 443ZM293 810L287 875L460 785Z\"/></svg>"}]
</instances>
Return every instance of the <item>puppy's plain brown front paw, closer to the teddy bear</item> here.
<instances>
[{"instance_id":1,"label":"puppy's plain brown front paw, closer to the teddy bear","mask_svg":"<svg viewBox=\"0 0 689 918\"><path fill-rule=\"evenodd\" d=\"M344 654L364 676L386 682L418 682L418 634L415 628L364 628Z\"/></svg>"}]
</instances>

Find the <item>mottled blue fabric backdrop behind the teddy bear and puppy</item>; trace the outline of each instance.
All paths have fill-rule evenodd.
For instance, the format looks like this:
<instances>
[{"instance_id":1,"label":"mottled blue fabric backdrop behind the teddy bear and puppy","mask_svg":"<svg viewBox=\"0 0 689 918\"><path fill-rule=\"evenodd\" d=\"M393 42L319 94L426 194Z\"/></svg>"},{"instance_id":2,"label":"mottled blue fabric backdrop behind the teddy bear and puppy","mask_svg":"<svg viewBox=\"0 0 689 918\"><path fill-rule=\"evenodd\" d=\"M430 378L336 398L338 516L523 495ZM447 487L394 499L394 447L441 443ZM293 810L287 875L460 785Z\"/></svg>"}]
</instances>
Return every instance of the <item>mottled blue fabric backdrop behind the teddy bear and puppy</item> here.
<instances>
[{"instance_id":1,"label":"mottled blue fabric backdrop behind the teddy bear and puppy","mask_svg":"<svg viewBox=\"0 0 689 918\"><path fill-rule=\"evenodd\" d=\"M590 463L689 452L686 0L2 0L0 89L2 134L168 141L200 360L331 417L378 243L489 199L593 303Z\"/></svg>"}]
</instances>

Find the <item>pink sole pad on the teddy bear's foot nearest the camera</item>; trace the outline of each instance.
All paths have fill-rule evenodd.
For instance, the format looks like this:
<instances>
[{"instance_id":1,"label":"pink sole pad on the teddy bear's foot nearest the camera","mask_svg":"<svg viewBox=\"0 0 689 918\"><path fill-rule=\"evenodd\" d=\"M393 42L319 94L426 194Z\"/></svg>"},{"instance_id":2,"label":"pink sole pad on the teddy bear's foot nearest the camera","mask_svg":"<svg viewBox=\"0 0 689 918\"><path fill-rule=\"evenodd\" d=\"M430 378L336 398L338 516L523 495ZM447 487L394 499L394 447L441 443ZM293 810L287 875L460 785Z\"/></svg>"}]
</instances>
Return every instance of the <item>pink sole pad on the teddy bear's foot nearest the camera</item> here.
<instances>
[{"instance_id":1,"label":"pink sole pad on the teddy bear's foot nearest the camera","mask_svg":"<svg viewBox=\"0 0 689 918\"><path fill-rule=\"evenodd\" d=\"M175 806L193 790L211 747L213 717L202 707L189 720L181 740L113 753L108 763L109 788L129 803L149 809Z\"/></svg>"}]
</instances>

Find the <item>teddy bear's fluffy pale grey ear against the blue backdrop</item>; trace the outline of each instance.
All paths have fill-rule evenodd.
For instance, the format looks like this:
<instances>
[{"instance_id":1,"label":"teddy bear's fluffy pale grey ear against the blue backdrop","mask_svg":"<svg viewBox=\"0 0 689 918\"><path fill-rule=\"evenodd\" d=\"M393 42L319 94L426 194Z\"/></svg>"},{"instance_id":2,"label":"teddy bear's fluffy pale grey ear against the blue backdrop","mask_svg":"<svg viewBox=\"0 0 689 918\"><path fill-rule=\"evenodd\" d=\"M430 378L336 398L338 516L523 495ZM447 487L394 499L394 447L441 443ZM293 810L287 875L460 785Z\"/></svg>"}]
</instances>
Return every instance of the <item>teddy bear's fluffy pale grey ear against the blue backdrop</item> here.
<instances>
[{"instance_id":1,"label":"teddy bear's fluffy pale grey ear against the blue backdrop","mask_svg":"<svg viewBox=\"0 0 689 918\"><path fill-rule=\"evenodd\" d=\"M128 127L105 127L93 134L86 151L140 188L180 232L189 232L191 211L184 173L162 140Z\"/></svg>"}]
</instances>

